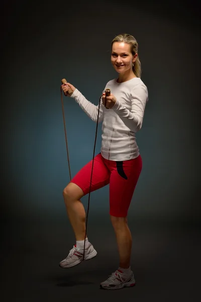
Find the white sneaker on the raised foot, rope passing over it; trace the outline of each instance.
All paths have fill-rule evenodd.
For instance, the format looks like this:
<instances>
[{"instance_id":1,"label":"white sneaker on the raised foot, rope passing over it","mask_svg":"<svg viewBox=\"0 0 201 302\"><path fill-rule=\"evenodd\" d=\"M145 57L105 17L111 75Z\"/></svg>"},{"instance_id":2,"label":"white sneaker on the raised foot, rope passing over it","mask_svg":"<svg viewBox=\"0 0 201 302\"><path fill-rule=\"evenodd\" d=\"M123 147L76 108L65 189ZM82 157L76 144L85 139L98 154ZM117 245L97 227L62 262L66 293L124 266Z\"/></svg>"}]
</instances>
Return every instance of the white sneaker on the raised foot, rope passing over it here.
<instances>
[{"instance_id":1,"label":"white sneaker on the raised foot, rope passing over it","mask_svg":"<svg viewBox=\"0 0 201 302\"><path fill-rule=\"evenodd\" d=\"M84 260L89 260L97 255L96 250L93 248L92 244L88 244L87 248L80 249L76 246L70 250L68 256L59 263L59 266L62 268L73 267L83 260L83 252L84 252Z\"/></svg>"}]
</instances>

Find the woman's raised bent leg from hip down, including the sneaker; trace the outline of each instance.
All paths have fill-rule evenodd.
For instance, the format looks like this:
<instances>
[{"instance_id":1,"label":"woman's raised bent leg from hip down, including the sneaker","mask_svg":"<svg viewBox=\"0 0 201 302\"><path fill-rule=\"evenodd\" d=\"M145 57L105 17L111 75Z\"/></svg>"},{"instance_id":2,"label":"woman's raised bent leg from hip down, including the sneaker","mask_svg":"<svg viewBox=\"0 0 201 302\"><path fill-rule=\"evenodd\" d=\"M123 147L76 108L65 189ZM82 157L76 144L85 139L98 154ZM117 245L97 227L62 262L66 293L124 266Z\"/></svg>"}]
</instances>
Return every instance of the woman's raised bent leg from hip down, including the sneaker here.
<instances>
[{"instance_id":1,"label":"woman's raised bent leg from hip down, including the sneaker","mask_svg":"<svg viewBox=\"0 0 201 302\"><path fill-rule=\"evenodd\" d=\"M96 256L97 252L93 248L86 237L86 245L84 250L85 239L85 210L80 199L85 194L89 193L90 179L91 179L92 161L85 165L71 180L63 191L66 211L69 221L72 225L76 245L70 250L68 256L62 260L59 265L62 268L73 267L83 260L91 259ZM94 158L93 175L91 181L91 192L102 188L109 184L110 171L103 163L101 155Z\"/></svg>"}]
</instances>

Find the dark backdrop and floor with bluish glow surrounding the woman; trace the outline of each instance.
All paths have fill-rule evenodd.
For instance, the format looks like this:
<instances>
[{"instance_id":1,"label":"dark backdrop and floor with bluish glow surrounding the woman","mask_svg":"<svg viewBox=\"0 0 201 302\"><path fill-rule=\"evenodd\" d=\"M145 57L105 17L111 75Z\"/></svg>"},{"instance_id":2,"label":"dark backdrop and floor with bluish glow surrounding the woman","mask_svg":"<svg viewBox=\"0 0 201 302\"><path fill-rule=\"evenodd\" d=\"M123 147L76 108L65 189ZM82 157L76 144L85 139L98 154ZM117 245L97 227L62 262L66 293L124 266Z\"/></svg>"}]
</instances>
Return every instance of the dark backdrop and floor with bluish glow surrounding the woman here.
<instances>
[{"instance_id":1,"label":"dark backdrop and floor with bluish glow surrounding the woman","mask_svg":"<svg viewBox=\"0 0 201 302\"><path fill-rule=\"evenodd\" d=\"M2 10L2 294L4 301L74 297L189 300L200 264L198 4L168 1L7 2ZM73 269L58 262L74 244L62 190L69 181L60 81L92 103L117 77L120 33L139 43L149 91L137 142L143 170L130 206L137 285L98 289L118 266L109 188L90 197L88 238L98 256ZM92 158L95 123L64 98L72 176ZM96 153L100 148L98 126ZM83 198L87 209L88 196ZM197 282L197 283L196 283Z\"/></svg>"}]
</instances>

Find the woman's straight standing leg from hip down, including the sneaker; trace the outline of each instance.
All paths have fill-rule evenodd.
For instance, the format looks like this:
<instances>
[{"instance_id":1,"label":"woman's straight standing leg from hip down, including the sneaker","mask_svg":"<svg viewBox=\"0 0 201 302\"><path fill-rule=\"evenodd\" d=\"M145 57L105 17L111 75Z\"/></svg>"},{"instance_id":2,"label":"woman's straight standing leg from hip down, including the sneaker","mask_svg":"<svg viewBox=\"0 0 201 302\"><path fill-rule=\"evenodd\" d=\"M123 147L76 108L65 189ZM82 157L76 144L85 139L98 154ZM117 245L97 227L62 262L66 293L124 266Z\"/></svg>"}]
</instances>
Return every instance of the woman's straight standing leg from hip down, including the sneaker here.
<instances>
[{"instance_id":1,"label":"woman's straight standing leg from hip down, including the sneaker","mask_svg":"<svg viewBox=\"0 0 201 302\"><path fill-rule=\"evenodd\" d=\"M119 251L119 269L100 283L104 289L120 289L135 285L131 271L132 237L128 227L127 214L131 199L142 170L142 160L110 162L110 215L115 230Z\"/></svg>"}]
</instances>

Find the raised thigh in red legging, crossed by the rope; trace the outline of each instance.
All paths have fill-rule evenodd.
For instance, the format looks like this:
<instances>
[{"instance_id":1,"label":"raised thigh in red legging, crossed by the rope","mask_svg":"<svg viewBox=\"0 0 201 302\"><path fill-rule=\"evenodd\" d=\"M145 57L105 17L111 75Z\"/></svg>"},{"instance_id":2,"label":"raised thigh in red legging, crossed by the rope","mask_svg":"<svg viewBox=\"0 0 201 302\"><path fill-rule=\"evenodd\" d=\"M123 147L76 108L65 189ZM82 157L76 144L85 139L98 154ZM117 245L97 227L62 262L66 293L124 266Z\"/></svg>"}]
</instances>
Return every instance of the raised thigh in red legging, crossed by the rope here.
<instances>
[{"instance_id":1,"label":"raised thigh in red legging, crossed by the rope","mask_svg":"<svg viewBox=\"0 0 201 302\"><path fill-rule=\"evenodd\" d=\"M110 171L103 162L101 154L94 157L93 173L91 178L92 160L87 163L70 181L80 187L84 195L109 184ZM91 182L91 186L90 186Z\"/></svg>"}]
</instances>

